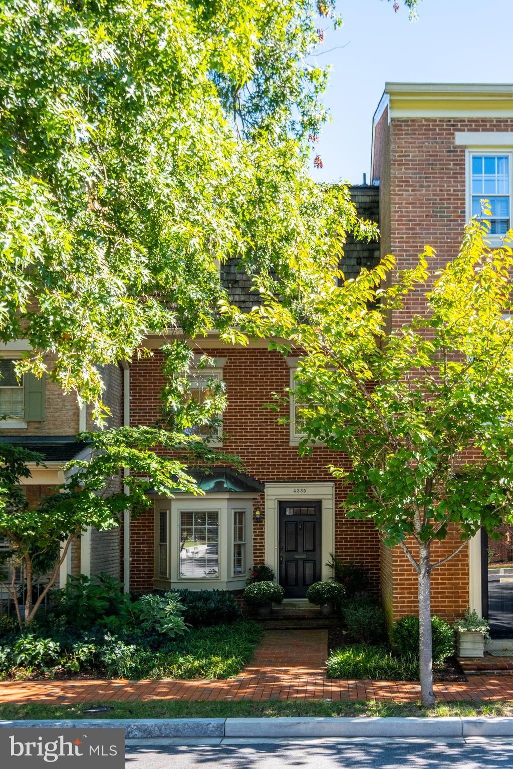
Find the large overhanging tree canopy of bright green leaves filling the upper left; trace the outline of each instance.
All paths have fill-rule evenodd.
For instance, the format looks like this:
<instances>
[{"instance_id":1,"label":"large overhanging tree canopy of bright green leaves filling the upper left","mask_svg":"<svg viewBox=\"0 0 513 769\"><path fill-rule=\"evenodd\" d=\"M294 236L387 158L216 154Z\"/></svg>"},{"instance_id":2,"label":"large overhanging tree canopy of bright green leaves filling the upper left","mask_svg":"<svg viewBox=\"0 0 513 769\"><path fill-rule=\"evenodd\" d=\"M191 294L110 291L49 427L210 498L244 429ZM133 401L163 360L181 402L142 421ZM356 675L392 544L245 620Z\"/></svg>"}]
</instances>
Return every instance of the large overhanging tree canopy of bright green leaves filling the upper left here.
<instances>
[{"instance_id":1,"label":"large overhanging tree canopy of bright green leaves filling the upper left","mask_svg":"<svg viewBox=\"0 0 513 769\"><path fill-rule=\"evenodd\" d=\"M412 5L412 0L405 0ZM308 177L335 0L0 0L0 339L95 404L148 333L211 328L218 263L288 273L343 198ZM52 362L49 362L52 361Z\"/></svg>"}]
</instances>

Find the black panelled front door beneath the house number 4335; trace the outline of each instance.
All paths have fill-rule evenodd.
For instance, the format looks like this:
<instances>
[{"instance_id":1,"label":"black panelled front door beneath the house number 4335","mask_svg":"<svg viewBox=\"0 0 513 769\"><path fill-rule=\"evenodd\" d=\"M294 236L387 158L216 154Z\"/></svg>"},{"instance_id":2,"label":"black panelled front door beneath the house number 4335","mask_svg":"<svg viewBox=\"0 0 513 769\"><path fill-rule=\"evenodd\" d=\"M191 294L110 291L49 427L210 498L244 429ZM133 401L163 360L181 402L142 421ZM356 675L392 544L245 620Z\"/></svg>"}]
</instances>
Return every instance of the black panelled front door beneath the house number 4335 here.
<instances>
[{"instance_id":1,"label":"black panelled front door beneath the house number 4335","mask_svg":"<svg viewBox=\"0 0 513 769\"><path fill-rule=\"evenodd\" d=\"M305 598L321 579L321 502L280 502L280 584L285 598Z\"/></svg>"}]
</instances>

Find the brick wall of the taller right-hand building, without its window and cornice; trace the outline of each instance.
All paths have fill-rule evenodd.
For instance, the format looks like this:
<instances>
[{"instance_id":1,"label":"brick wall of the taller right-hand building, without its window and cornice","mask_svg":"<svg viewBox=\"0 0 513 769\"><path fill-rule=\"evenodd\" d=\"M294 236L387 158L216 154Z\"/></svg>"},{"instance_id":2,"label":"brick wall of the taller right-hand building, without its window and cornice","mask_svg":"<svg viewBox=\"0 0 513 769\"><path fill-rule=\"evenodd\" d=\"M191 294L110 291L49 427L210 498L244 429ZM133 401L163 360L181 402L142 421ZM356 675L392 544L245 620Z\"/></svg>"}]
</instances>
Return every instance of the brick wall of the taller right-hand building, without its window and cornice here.
<instances>
[{"instance_id":1,"label":"brick wall of the taller right-hand building, without its window and cornice","mask_svg":"<svg viewBox=\"0 0 513 769\"><path fill-rule=\"evenodd\" d=\"M425 245L431 245L437 252L430 265L434 271L458 252L467 217L466 147L456 144L456 133L504 134L513 131L513 118L461 117L456 103L455 117L397 117L393 93L390 98L375 122L371 169L380 186L381 255L391 253L399 268L408 268L416 264ZM476 114L480 109L476 106ZM420 292L411 295L405 309L391 318L393 327L420 311L422 304ZM466 453L465 460L475 458ZM444 558L455 544L454 538L437 544L433 558ZM399 548L390 551L381 546L381 598L389 620L417 611L416 575ZM433 572L432 607L451 620L468 605L469 562L464 548Z\"/></svg>"}]
</instances>

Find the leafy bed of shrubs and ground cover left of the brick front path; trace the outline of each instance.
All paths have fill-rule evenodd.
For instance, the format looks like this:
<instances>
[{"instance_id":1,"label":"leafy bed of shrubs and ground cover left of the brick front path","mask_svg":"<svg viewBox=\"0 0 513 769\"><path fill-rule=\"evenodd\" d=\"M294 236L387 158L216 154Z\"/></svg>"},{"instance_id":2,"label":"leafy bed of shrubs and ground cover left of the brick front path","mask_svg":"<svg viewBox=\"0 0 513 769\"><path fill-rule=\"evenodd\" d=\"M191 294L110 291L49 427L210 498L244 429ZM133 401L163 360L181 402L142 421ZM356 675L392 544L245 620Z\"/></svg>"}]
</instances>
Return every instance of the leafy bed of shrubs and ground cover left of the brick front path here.
<instances>
[{"instance_id":1,"label":"leafy bed of shrubs and ground cover left of the brick front path","mask_svg":"<svg viewBox=\"0 0 513 769\"><path fill-rule=\"evenodd\" d=\"M233 677L261 638L234 603L222 591L208 600L189 591L137 598L106 575L80 575L55 591L52 607L29 631L2 619L0 677ZM208 614L208 606L217 606L217 624L202 621L200 608Z\"/></svg>"}]
</instances>

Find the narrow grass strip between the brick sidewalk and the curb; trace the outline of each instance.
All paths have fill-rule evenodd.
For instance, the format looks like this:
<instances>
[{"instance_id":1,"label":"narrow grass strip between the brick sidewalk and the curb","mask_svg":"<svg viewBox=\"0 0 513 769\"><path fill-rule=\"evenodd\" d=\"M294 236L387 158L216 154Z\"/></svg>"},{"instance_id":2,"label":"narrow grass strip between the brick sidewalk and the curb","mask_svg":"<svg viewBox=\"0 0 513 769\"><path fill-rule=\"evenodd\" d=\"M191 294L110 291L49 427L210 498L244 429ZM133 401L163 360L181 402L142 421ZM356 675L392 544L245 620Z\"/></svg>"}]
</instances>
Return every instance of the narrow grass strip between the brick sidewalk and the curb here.
<instances>
[{"instance_id":1,"label":"narrow grass strip between the brick sidewalk and the curb","mask_svg":"<svg viewBox=\"0 0 513 769\"><path fill-rule=\"evenodd\" d=\"M88 714L91 707L112 707L108 713ZM65 718L241 718L241 717L405 717L405 716L513 716L513 701L440 702L431 709L420 704L395 702L329 702L318 701L240 701L192 702L152 700L148 702L99 702L88 704L50 705L42 703L0 704L0 719L65 719Z\"/></svg>"}]
</instances>

